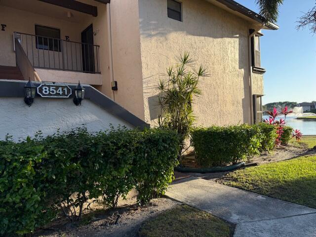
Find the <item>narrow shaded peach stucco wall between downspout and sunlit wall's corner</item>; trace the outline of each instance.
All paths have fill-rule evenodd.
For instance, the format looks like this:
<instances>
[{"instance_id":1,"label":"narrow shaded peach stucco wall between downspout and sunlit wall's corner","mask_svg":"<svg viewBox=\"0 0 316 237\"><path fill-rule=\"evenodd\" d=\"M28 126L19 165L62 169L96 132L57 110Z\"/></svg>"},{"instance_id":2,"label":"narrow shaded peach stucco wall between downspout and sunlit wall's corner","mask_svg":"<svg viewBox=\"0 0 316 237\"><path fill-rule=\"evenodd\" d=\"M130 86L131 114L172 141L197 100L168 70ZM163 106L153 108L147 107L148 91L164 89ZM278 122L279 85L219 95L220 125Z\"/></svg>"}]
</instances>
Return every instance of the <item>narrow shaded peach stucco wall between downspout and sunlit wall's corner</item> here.
<instances>
[{"instance_id":1,"label":"narrow shaded peach stucco wall between downspout and sunlit wall's corner","mask_svg":"<svg viewBox=\"0 0 316 237\"><path fill-rule=\"evenodd\" d=\"M110 7L114 79L118 81L114 98L144 119L138 0L113 0Z\"/></svg>"}]
</instances>

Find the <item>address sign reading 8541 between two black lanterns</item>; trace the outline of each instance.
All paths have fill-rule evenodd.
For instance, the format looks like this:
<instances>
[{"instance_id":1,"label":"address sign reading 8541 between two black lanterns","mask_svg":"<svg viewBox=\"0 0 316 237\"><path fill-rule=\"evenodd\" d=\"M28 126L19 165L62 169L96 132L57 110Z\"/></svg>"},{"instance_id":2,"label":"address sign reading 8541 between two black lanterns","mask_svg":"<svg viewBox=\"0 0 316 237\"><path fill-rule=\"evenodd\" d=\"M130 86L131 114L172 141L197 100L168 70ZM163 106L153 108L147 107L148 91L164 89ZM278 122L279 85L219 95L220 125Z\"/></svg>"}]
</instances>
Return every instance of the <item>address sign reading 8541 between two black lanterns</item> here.
<instances>
[{"instance_id":1,"label":"address sign reading 8541 between two black lanterns","mask_svg":"<svg viewBox=\"0 0 316 237\"><path fill-rule=\"evenodd\" d=\"M41 97L69 98L72 89L68 85L43 83L38 86L38 94Z\"/></svg>"}]
</instances>

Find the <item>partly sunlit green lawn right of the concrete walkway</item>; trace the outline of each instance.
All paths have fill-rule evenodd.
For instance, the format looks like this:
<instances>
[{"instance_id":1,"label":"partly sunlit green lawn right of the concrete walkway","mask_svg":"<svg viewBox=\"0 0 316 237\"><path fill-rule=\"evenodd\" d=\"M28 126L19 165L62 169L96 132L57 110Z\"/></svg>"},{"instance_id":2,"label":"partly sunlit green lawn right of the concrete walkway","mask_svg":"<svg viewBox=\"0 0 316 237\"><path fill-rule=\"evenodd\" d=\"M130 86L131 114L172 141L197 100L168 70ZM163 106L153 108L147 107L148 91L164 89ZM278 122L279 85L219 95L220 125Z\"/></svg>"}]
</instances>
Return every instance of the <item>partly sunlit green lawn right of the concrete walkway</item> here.
<instances>
[{"instance_id":1,"label":"partly sunlit green lawn right of the concrete walkway","mask_svg":"<svg viewBox=\"0 0 316 237\"><path fill-rule=\"evenodd\" d=\"M232 187L316 208L316 156L237 170L222 181Z\"/></svg>"}]
</instances>

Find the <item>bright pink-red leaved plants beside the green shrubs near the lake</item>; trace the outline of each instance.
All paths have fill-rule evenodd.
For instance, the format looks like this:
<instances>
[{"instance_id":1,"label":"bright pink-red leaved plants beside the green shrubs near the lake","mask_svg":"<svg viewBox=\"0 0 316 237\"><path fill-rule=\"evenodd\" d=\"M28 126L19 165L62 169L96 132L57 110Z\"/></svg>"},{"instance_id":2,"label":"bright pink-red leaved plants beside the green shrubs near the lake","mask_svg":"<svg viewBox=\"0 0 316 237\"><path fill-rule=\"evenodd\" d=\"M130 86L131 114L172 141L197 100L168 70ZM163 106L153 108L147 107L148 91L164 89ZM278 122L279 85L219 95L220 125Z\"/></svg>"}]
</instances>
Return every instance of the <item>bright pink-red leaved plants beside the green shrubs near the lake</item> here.
<instances>
[{"instance_id":1,"label":"bright pink-red leaved plants beside the green shrubs near the lake","mask_svg":"<svg viewBox=\"0 0 316 237\"><path fill-rule=\"evenodd\" d=\"M269 115L269 119L265 119L264 122L273 124L276 126L276 146L279 146L281 144L281 137L283 134L283 127L285 126L286 122L286 116L290 113L293 113L292 110L288 110L287 106L285 108L281 108L281 112L278 112L276 110L276 107L273 108L273 111L266 111L266 113ZM277 116L279 115L284 115L284 119L280 118L279 120L276 119ZM293 130L292 132L292 138L295 137L297 141L301 140L301 137L303 134L301 133L300 130L296 129L295 131Z\"/></svg>"}]
</instances>

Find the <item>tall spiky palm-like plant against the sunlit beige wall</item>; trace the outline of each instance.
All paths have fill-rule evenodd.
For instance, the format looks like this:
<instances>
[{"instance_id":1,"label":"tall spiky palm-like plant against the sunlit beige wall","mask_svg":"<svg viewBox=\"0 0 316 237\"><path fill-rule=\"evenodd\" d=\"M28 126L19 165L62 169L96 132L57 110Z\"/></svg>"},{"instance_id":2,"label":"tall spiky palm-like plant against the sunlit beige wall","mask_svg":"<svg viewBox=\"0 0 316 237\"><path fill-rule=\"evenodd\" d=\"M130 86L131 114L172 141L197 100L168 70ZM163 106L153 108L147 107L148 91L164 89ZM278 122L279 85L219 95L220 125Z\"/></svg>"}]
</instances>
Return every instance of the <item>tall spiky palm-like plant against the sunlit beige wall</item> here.
<instances>
[{"instance_id":1,"label":"tall spiky palm-like plant against the sunlit beige wall","mask_svg":"<svg viewBox=\"0 0 316 237\"><path fill-rule=\"evenodd\" d=\"M189 136L195 120L193 98L202 93L198 81L208 75L203 66L195 67L195 61L190 58L188 52L177 59L179 63L168 68L166 78L160 79L159 82L158 102L161 113L158 122L160 127L168 127L178 132L182 151L184 140Z\"/></svg>"}]
</instances>

